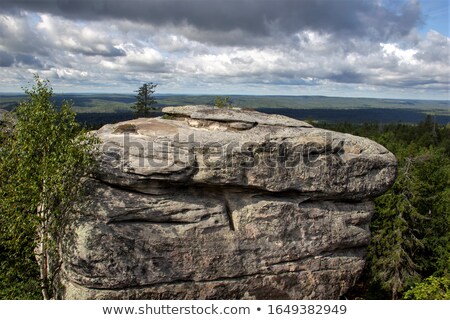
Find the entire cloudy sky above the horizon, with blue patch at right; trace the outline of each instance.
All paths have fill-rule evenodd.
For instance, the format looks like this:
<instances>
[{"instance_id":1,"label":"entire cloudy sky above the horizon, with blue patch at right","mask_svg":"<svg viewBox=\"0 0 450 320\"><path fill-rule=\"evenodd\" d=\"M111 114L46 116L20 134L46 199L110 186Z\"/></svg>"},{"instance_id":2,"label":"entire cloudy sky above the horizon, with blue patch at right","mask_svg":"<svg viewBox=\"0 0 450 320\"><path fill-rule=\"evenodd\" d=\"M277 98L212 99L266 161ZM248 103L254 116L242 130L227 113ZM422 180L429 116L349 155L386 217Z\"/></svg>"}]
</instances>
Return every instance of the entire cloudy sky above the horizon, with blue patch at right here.
<instances>
[{"instance_id":1,"label":"entire cloudy sky above the horizon, with blue patch at right","mask_svg":"<svg viewBox=\"0 0 450 320\"><path fill-rule=\"evenodd\" d=\"M0 0L0 92L449 99L448 0Z\"/></svg>"}]
</instances>

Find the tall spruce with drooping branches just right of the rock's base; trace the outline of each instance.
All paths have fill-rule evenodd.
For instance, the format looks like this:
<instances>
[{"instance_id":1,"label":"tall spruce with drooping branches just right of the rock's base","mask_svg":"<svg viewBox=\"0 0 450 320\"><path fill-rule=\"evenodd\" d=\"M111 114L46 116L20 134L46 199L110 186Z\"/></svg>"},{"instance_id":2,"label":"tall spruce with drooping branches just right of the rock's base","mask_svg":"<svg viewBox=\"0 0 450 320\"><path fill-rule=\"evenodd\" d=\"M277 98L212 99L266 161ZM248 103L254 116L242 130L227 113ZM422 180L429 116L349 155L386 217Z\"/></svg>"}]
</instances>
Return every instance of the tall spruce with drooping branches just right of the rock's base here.
<instances>
[{"instance_id":1,"label":"tall spruce with drooping branches just right of the rock's base","mask_svg":"<svg viewBox=\"0 0 450 320\"><path fill-rule=\"evenodd\" d=\"M413 205L414 177L408 159L392 188L376 200L371 224L369 262L373 280L398 299L408 284L420 279L415 252L423 248L417 226L424 217Z\"/></svg>"}]
</instances>

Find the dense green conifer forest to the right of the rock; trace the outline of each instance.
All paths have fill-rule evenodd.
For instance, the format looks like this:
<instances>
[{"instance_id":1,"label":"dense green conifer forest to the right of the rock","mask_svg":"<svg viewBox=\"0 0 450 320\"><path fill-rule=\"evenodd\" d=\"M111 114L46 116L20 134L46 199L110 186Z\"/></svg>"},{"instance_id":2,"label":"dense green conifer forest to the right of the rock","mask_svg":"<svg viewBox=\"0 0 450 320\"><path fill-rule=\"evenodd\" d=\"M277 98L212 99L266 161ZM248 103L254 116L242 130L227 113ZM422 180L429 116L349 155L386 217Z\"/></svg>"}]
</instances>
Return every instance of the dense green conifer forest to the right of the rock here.
<instances>
[{"instance_id":1,"label":"dense green conifer forest to the right of the rock","mask_svg":"<svg viewBox=\"0 0 450 320\"><path fill-rule=\"evenodd\" d=\"M398 159L392 188L376 199L363 277L349 295L450 299L450 125L323 125L375 140Z\"/></svg>"}]
</instances>

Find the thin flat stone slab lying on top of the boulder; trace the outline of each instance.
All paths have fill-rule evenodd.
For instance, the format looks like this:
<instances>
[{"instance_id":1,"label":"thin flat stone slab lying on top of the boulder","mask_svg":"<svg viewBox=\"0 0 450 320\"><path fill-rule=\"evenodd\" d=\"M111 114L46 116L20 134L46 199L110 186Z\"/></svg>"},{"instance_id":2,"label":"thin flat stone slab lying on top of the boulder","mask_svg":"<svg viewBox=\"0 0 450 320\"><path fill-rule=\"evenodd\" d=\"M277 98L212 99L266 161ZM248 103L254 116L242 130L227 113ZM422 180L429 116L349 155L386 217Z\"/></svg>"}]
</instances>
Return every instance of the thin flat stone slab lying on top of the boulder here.
<instances>
[{"instance_id":1,"label":"thin flat stone slab lying on top of the boulder","mask_svg":"<svg viewBox=\"0 0 450 320\"><path fill-rule=\"evenodd\" d=\"M309 123L278 114L265 114L240 108L219 109L210 106L166 107L162 111L172 115L183 115L191 119L224 122L246 122L271 126L311 128Z\"/></svg>"}]
</instances>

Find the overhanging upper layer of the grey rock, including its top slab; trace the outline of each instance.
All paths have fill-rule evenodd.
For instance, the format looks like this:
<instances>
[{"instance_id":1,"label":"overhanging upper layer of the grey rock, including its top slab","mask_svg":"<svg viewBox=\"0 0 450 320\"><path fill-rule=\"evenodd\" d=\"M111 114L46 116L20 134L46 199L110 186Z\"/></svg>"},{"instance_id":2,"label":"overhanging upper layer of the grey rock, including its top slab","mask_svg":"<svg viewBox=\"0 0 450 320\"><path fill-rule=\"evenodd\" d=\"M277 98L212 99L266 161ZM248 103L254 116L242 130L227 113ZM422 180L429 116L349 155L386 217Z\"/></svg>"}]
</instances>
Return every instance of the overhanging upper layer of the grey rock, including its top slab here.
<instances>
[{"instance_id":1,"label":"overhanging upper layer of the grey rock, including its top slab","mask_svg":"<svg viewBox=\"0 0 450 320\"><path fill-rule=\"evenodd\" d=\"M176 182L361 199L395 179L395 157L366 138L237 108L163 112L97 131L100 180L150 193L155 183Z\"/></svg>"}]
</instances>

